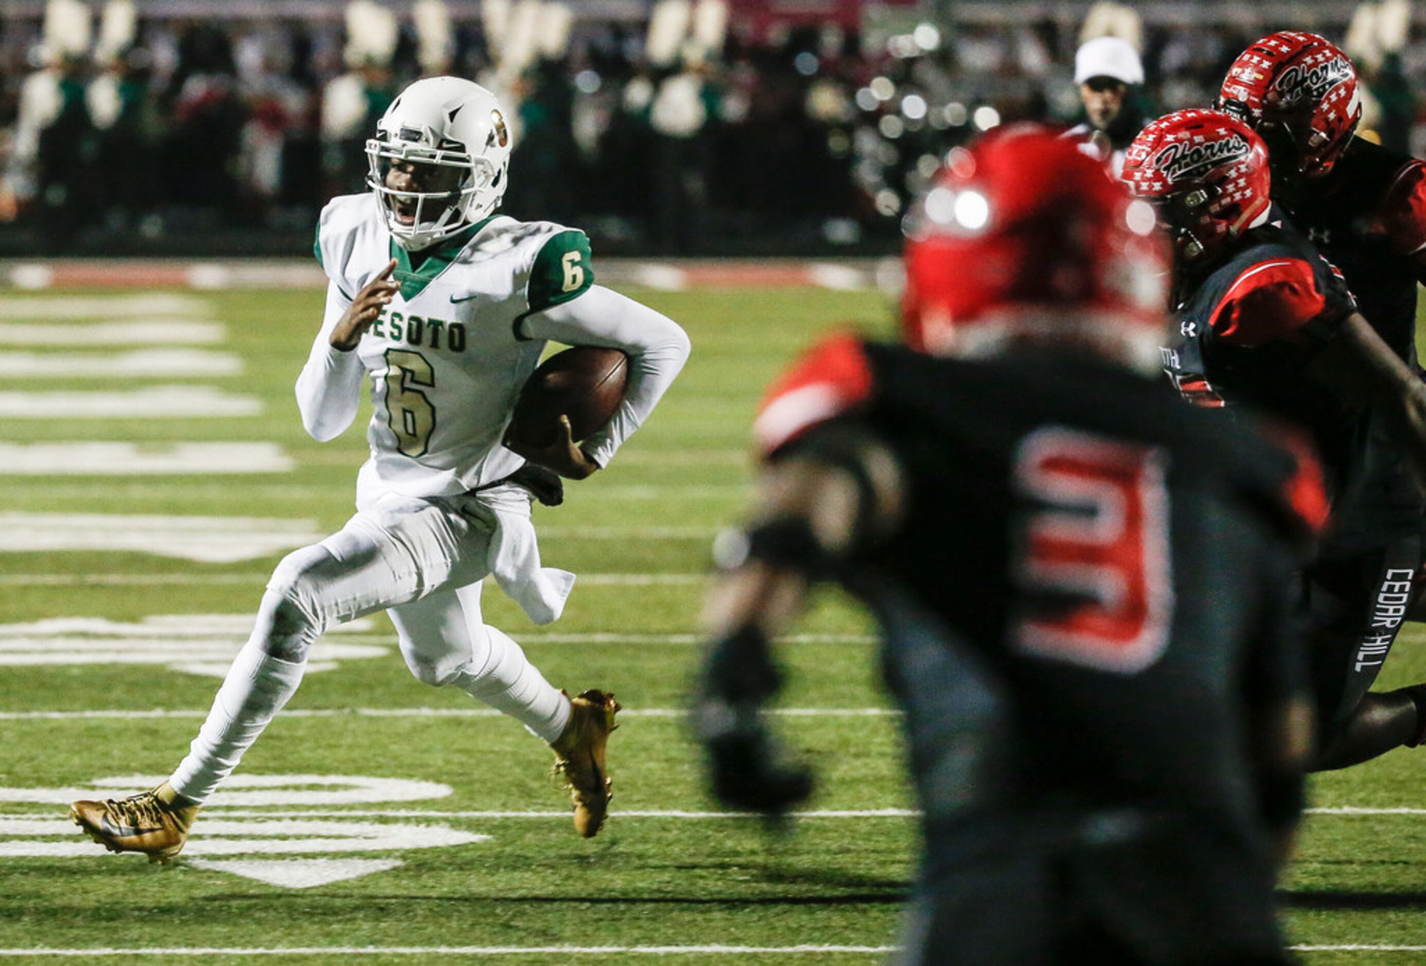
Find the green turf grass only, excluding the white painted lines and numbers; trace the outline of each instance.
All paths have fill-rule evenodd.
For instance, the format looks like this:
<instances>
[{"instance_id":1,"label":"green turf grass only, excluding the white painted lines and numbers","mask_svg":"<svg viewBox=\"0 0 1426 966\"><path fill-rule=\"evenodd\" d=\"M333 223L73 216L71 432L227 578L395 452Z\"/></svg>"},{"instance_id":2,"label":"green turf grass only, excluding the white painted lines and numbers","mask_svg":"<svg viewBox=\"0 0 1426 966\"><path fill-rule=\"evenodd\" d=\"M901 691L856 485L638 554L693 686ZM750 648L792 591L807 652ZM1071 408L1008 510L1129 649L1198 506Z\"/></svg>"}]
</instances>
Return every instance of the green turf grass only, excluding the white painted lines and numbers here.
<instances>
[{"instance_id":1,"label":"green turf grass only, excluding the white painted lines and numbers","mask_svg":"<svg viewBox=\"0 0 1426 966\"><path fill-rule=\"evenodd\" d=\"M124 294L114 294L121 298ZM354 710L469 711L453 691L416 682L395 651L384 617L352 640L384 657L344 660L308 675L245 758L241 774L364 775L451 786L441 798L354 805L331 812L442 812L429 819L376 815L364 822L442 824L489 841L372 853L404 865L356 879L284 889L180 861L170 868L97 846L71 858L0 858L0 949L100 947L435 947L435 946L887 946L914 855L914 824L900 815L801 819L773 833L743 818L627 812L704 812L697 755L677 710L689 690L709 540L734 521L750 493L747 426L767 380L816 333L840 323L887 332L888 302L876 294L720 291L636 294L682 322L693 356L666 402L606 473L570 484L563 507L536 510L546 563L586 576L566 616L536 628L488 590L488 620L523 640L552 681L606 687L632 712L612 742L613 818L592 842L578 839L550 779L543 747L491 717L374 717ZM202 295L240 355L238 376L184 379L23 380L11 390L133 389L157 382L255 395L262 413L240 419L7 420L3 442L251 440L281 445L297 462L270 476L4 477L3 511L261 516L314 520L321 531L351 513L365 456L364 407L341 439L319 445L298 423L292 380L321 312L319 292ZM56 323L63 325L63 323ZM3 350L3 349L0 349ZM31 350L31 349L26 349ZM44 349L33 349L44 352ZM663 530L632 537L629 527ZM201 564L130 551L0 554L0 624L57 617L138 621L157 614L247 614L278 554ZM597 583L599 574L676 578ZM781 651L789 708L886 710L866 617L824 594L800 633L833 643ZM552 633L613 634L559 641ZM656 635L657 640L619 640ZM674 637L669 637L674 635ZM3 645L4 638L0 638ZM3 654L3 651L0 651ZM155 664L0 665L0 712L96 710L191 712L163 718L0 720L0 786L63 788L108 775L165 774L184 754L218 680ZM1422 634L1409 628L1385 684L1426 678ZM351 712L348 712L351 711ZM335 712L314 715L309 712ZM814 809L910 808L896 718L784 717L777 727L807 749L820 788ZM1319 806L1422 806L1419 754L1319 777ZM0 804L6 816L57 818L63 805ZM215 821L214 806L200 818ZM272 816L299 806L244 809ZM536 812L520 818L492 811ZM622 814L623 812L623 814ZM341 821L339 815L325 816ZM1288 922L1299 943L1426 945L1426 825L1420 815L1318 815L1308 819L1285 882ZM74 836L63 836L71 841ZM0 836L6 842L61 841ZM77 841L77 839L76 839ZM361 858L372 858L362 853ZM271 856L292 858L292 856ZM153 960L143 956L137 962ZM212 956L204 962L279 962ZM436 956L301 956L291 962L411 963ZM502 956L508 963L575 956ZM609 955L597 962L625 962ZM868 963L878 955L684 955L674 963ZM1312 963L1426 962L1422 953L1313 953ZM10 962L10 960L7 960ZM23 960L14 960L23 962ZM34 960L34 962L54 962ZM86 962L83 957L70 962ZM110 960L98 960L110 962ZM113 962L135 962L133 959ZM183 960L187 962L187 960ZM442 959L442 962L445 962ZM455 960L463 962L463 960ZM582 962L582 960L580 960ZM635 959L633 962L640 962Z\"/></svg>"}]
</instances>

